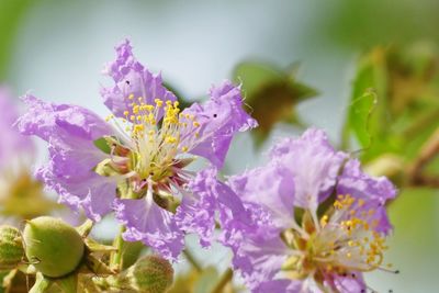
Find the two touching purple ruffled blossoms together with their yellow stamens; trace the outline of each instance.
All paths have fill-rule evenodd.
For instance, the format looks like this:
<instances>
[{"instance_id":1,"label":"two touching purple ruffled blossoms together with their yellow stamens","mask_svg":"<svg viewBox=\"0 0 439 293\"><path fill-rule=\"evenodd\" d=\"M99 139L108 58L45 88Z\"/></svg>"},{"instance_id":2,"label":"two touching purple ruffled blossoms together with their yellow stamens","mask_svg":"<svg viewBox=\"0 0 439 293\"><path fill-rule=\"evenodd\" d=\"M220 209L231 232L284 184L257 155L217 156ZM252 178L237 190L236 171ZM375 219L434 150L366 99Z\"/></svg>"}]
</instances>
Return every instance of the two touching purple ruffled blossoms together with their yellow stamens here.
<instances>
[{"instance_id":1,"label":"two touching purple ruffled blossoms together with their yellow stamens","mask_svg":"<svg viewBox=\"0 0 439 293\"><path fill-rule=\"evenodd\" d=\"M48 143L37 170L61 203L100 221L114 212L124 239L142 240L176 259L183 236L234 252L252 292L364 292L362 273L391 271L383 261L392 229L385 204L396 195L386 178L371 178L311 128L270 151L269 162L218 180L234 135L257 126L239 87L225 81L210 100L181 110L176 95L132 53L128 41L106 66L101 89L105 120L71 104L24 98L23 134ZM188 167L203 157L209 166Z\"/></svg>"}]
</instances>

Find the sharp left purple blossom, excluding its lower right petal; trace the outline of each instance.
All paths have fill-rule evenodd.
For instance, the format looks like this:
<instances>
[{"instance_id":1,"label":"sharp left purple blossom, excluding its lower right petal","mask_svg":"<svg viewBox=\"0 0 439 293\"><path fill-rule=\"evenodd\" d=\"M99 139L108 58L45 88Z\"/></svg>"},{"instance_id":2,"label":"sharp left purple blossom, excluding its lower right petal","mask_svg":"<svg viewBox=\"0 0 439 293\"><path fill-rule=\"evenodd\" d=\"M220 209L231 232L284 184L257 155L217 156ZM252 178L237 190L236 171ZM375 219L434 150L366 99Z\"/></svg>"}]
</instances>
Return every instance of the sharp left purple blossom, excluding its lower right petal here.
<instances>
[{"instance_id":1,"label":"sharp left purple blossom, excluding its lower right petal","mask_svg":"<svg viewBox=\"0 0 439 293\"><path fill-rule=\"evenodd\" d=\"M201 156L221 168L235 133L257 123L229 81L213 87L207 102L180 111L160 75L135 59L128 41L116 47L105 74L114 81L101 89L113 113L105 121L80 106L26 95L29 111L19 128L49 144L50 160L37 174L63 203L82 207L94 221L113 210L126 226L126 240L176 258L183 227L175 213L194 176L185 167Z\"/></svg>"}]
</instances>

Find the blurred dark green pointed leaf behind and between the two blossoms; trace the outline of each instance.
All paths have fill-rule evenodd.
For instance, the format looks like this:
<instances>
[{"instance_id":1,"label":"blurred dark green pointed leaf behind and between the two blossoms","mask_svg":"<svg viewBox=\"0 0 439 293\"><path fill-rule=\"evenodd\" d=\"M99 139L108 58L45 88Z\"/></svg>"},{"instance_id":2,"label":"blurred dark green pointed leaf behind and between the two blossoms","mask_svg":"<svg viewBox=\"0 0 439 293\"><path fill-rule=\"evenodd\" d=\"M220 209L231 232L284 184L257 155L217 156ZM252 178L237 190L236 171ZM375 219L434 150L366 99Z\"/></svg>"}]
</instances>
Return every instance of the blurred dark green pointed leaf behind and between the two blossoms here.
<instances>
[{"instance_id":1,"label":"blurred dark green pointed leaf behind and between the two blossoms","mask_svg":"<svg viewBox=\"0 0 439 293\"><path fill-rule=\"evenodd\" d=\"M296 81L295 71L280 70L270 64L241 63L236 66L233 78L241 82L247 110L259 123L252 131L258 146L279 122L302 126L295 106L317 95L314 89Z\"/></svg>"}]
</instances>

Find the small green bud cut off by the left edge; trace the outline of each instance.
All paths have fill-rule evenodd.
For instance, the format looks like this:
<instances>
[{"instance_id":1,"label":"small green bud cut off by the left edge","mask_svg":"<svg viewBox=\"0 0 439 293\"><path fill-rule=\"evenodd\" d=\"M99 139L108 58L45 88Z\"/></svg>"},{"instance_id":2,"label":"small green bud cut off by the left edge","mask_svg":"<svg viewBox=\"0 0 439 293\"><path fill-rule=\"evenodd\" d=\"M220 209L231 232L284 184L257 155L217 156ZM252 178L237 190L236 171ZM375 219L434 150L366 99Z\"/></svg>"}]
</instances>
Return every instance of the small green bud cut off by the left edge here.
<instances>
[{"instance_id":1,"label":"small green bud cut off by the left edge","mask_svg":"<svg viewBox=\"0 0 439 293\"><path fill-rule=\"evenodd\" d=\"M15 268L24 256L20 230L7 225L0 226L0 270Z\"/></svg>"}]
</instances>

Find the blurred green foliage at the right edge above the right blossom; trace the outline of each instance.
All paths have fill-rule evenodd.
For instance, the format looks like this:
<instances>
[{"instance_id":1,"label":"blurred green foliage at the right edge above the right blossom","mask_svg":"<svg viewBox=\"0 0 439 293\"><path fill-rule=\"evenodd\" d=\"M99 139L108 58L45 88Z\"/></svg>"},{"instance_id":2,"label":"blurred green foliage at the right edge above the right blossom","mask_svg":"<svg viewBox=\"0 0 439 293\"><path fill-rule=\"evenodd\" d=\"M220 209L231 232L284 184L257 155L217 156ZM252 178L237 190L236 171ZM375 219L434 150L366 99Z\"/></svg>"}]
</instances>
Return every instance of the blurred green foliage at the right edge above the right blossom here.
<instances>
[{"instance_id":1,"label":"blurred green foliage at the right edge above the right blossom","mask_svg":"<svg viewBox=\"0 0 439 293\"><path fill-rule=\"evenodd\" d=\"M344 146L356 137L362 160L384 153L406 160L439 126L439 55L429 44L375 47L359 61Z\"/></svg>"}]
</instances>

